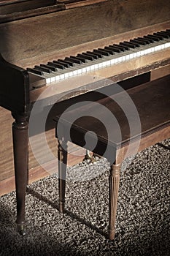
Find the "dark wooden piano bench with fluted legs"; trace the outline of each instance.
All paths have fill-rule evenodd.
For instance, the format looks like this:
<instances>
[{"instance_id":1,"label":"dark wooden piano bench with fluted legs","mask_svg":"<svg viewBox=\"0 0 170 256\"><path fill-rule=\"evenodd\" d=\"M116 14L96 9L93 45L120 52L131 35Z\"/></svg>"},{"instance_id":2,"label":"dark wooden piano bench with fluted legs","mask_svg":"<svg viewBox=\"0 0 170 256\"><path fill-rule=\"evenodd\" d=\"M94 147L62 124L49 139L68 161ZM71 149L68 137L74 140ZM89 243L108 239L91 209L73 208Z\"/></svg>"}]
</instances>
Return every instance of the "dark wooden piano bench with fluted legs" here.
<instances>
[{"instance_id":1,"label":"dark wooden piano bench with fluted legs","mask_svg":"<svg viewBox=\"0 0 170 256\"><path fill-rule=\"evenodd\" d=\"M121 162L170 137L169 84L170 75L128 91L113 85L115 94L96 102L72 105L55 118L61 212L65 203L67 142L72 141L110 162L109 239L115 238Z\"/></svg>"}]
</instances>

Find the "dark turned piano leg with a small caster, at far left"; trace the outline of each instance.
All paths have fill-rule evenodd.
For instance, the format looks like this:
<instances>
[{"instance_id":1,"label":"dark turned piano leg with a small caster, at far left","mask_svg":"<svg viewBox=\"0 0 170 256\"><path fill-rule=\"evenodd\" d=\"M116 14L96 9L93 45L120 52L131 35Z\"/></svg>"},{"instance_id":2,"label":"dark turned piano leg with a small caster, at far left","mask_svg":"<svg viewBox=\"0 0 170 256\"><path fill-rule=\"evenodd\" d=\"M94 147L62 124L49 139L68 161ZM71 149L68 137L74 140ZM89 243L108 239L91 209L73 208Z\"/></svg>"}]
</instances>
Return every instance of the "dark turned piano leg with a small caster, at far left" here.
<instances>
[{"instance_id":1,"label":"dark turned piano leg with a small caster, at far left","mask_svg":"<svg viewBox=\"0 0 170 256\"><path fill-rule=\"evenodd\" d=\"M14 116L14 115L13 115ZM14 164L15 164L15 186L17 198L17 224L22 235L25 231L25 203L26 185L28 175L28 121L26 117L14 116L12 124Z\"/></svg>"}]
</instances>

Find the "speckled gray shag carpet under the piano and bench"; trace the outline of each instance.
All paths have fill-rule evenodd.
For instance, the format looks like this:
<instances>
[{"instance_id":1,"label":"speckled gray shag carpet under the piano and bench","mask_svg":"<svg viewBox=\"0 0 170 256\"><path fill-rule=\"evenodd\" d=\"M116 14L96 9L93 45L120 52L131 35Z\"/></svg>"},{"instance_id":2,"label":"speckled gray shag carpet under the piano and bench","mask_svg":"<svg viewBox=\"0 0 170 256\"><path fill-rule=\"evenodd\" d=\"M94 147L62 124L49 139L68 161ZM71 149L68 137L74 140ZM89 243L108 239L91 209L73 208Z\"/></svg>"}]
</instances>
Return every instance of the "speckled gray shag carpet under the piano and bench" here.
<instances>
[{"instance_id":1,"label":"speckled gray shag carpet under the piano and bench","mask_svg":"<svg viewBox=\"0 0 170 256\"><path fill-rule=\"evenodd\" d=\"M168 145L170 140L163 141ZM168 148L168 147L167 147ZM108 228L109 164L69 168L66 214L54 174L28 187L26 236L15 225L15 192L1 197L0 255L170 255L170 151L158 144L123 162L115 241ZM96 172L96 177L93 173ZM87 180L86 176L91 178ZM77 181L72 181L72 177ZM86 179L86 180L85 180Z\"/></svg>"}]
</instances>

